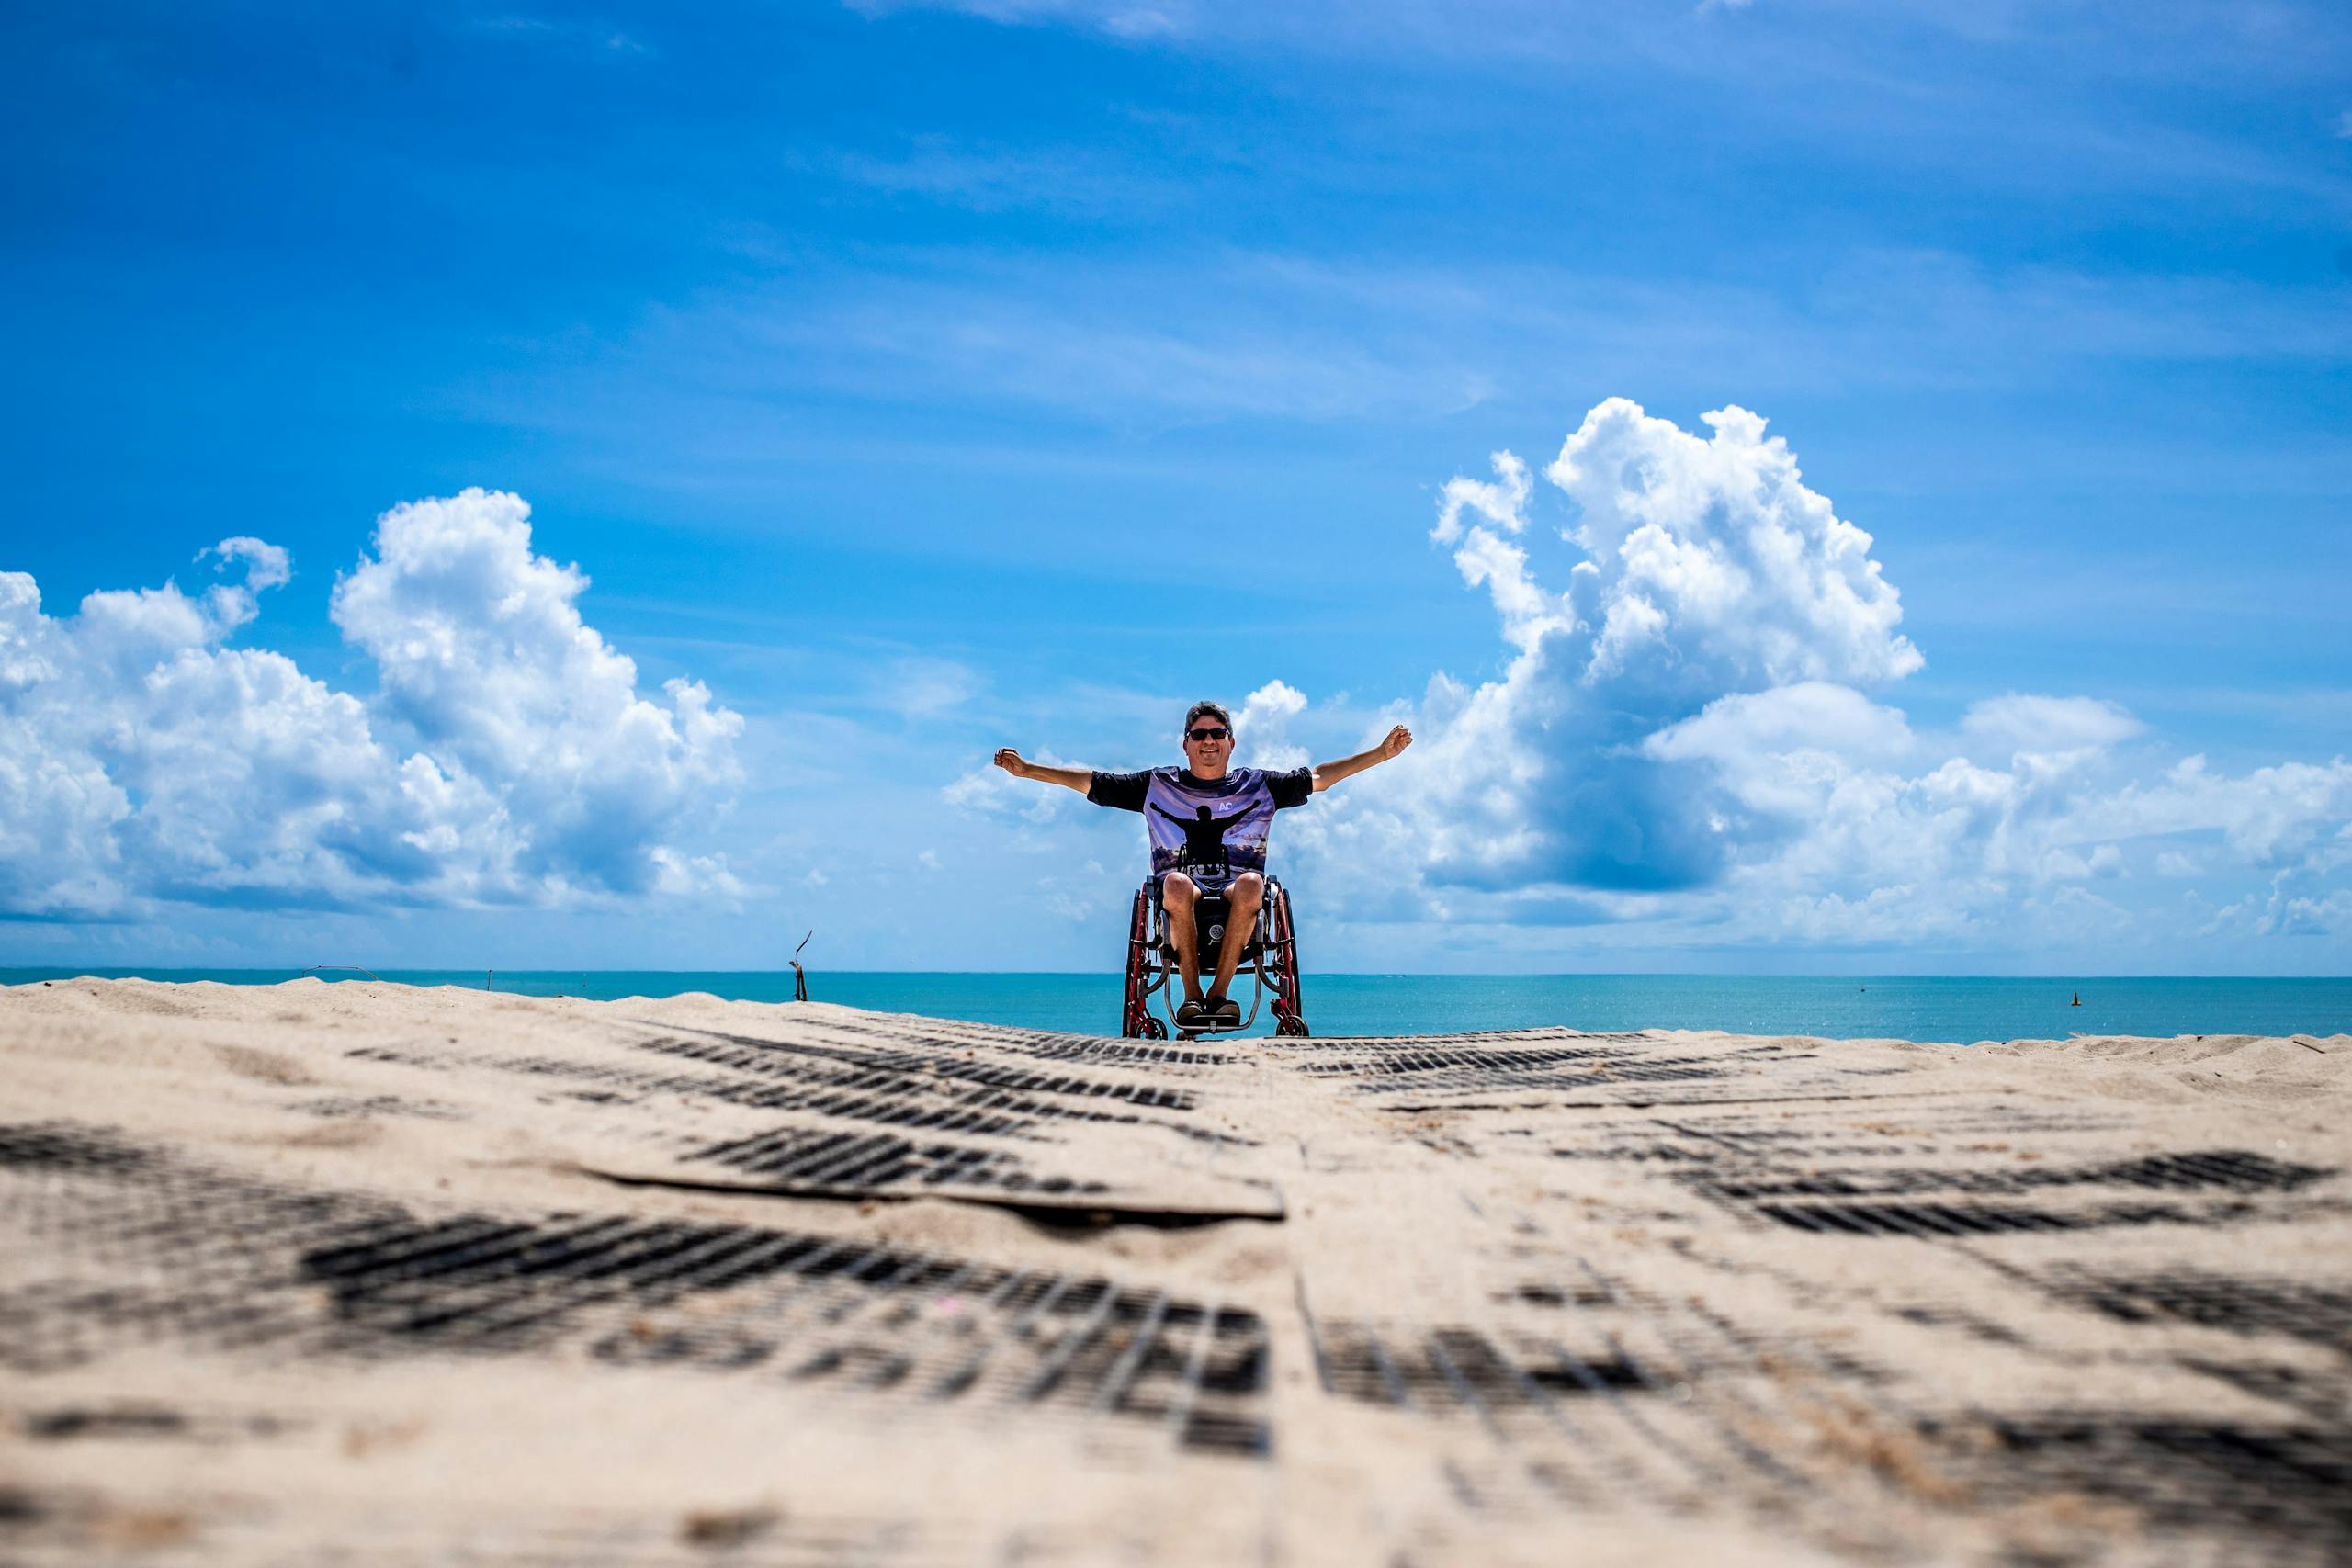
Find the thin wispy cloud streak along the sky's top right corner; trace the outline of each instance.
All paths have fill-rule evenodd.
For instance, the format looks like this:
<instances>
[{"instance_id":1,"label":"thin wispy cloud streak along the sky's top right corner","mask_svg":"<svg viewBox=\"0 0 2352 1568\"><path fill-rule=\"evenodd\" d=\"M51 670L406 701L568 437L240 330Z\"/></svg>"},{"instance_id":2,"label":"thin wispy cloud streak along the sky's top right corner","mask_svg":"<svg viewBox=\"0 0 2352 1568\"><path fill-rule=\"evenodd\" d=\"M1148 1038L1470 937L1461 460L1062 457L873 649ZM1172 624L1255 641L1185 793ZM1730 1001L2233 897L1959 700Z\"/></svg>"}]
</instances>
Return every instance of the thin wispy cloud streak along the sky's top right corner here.
<instances>
[{"instance_id":1,"label":"thin wispy cloud streak along the sky's top right corner","mask_svg":"<svg viewBox=\"0 0 2352 1568\"><path fill-rule=\"evenodd\" d=\"M1120 0L856 0L894 16L946 9L1004 26L1058 26L1228 59L1345 63L1524 82L1649 78L1670 92L1703 85L1710 122L1816 141L1832 165L1867 141L1870 160L1936 172L1959 188L1987 174L2018 197L2089 190L2298 190L2338 212L2338 172L2265 141L2147 110L2147 94L2107 82L2237 92L2338 82L2352 66L2343 7L1936 5L1696 7L1531 5L1529 0L1190 0L1157 9ZM1710 26L1740 12L1743 26ZM2086 87L2074 61L2098 59ZM1990 68L1987 68L1990 66ZM1830 150L1835 148L1835 150Z\"/></svg>"}]
</instances>

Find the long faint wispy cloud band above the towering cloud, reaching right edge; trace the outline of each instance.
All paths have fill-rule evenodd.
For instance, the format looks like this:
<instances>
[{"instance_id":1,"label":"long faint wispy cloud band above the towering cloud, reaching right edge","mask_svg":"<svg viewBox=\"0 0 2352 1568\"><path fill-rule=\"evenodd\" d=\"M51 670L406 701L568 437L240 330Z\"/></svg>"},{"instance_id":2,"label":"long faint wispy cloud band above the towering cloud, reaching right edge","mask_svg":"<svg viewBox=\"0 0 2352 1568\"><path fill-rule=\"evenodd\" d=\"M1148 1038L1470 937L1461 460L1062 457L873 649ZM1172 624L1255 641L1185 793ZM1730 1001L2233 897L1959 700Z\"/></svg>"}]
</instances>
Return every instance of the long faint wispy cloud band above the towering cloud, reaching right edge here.
<instances>
[{"instance_id":1,"label":"long faint wispy cloud band above the towering cloud, reaching right edge","mask_svg":"<svg viewBox=\"0 0 2352 1568\"><path fill-rule=\"evenodd\" d=\"M1091 430L1216 421L1432 423L1534 414L1559 381L1700 400L1870 388L2037 393L2089 367L2345 364L2333 289L2225 277L1994 268L1943 252L1853 252L1792 289L1543 266L1341 266L1211 252L870 256L786 287L652 310L548 376L477 388L522 425L670 465L776 451L767 414L809 395L1049 414ZM649 444L652 442L652 444ZM656 449L659 447L659 449ZM2164 454L2136 451L2133 461Z\"/></svg>"}]
</instances>

